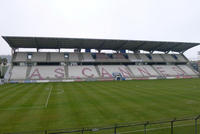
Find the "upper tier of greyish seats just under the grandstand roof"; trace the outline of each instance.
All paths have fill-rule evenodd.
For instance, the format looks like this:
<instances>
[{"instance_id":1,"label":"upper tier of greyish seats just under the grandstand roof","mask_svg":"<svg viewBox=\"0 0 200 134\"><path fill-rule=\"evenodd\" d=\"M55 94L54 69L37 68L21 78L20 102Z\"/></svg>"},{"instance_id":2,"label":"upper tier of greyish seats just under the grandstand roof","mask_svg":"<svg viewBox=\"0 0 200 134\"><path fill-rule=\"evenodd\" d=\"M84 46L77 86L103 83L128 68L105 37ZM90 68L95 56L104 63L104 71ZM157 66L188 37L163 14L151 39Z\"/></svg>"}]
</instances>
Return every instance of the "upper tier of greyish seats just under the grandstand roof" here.
<instances>
[{"instance_id":1,"label":"upper tier of greyish seats just under the grandstand roof","mask_svg":"<svg viewBox=\"0 0 200 134\"><path fill-rule=\"evenodd\" d=\"M181 54L105 54L105 53L46 53L17 52L15 62L94 62L94 61L131 61L131 62L187 62Z\"/></svg>"}]
</instances>

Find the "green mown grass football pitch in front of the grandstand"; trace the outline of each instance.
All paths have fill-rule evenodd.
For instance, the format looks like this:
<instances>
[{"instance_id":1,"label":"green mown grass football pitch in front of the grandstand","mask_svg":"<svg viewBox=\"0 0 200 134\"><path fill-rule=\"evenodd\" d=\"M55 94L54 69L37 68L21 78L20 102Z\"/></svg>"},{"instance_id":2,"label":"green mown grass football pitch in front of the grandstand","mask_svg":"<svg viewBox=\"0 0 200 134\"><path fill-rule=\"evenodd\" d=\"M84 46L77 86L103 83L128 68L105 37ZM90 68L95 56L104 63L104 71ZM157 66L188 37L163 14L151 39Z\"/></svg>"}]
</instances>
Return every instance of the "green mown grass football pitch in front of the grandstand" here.
<instances>
[{"instance_id":1,"label":"green mown grass football pitch in front of the grandstand","mask_svg":"<svg viewBox=\"0 0 200 134\"><path fill-rule=\"evenodd\" d=\"M198 114L200 79L0 86L0 133L110 126ZM169 132L165 127L152 129L148 134ZM119 129L119 132L142 134L139 131L142 128ZM190 125L175 129L182 134L193 130Z\"/></svg>"}]
</instances>

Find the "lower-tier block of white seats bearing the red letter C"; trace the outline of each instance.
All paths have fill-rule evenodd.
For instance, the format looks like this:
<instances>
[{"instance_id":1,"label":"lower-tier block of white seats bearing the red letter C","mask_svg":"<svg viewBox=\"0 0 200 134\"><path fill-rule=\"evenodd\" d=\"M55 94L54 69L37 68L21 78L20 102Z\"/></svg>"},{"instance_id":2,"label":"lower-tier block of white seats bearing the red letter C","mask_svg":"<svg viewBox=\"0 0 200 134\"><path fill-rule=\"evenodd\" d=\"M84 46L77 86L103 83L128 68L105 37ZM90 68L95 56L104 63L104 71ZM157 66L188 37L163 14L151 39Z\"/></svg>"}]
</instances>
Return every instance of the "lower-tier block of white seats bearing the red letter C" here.
<instances>
[{"instance_id":1,"label":"lower-tier block of white seats bearing the red letter C","mask_svg":"<svg viewBox=\"0 0 200 134\"><path fill-rule=\"evenodd\" d=\"M68 66L69 78L97 78L99 77L94 66Z\"/></svg>"}]
</instances>

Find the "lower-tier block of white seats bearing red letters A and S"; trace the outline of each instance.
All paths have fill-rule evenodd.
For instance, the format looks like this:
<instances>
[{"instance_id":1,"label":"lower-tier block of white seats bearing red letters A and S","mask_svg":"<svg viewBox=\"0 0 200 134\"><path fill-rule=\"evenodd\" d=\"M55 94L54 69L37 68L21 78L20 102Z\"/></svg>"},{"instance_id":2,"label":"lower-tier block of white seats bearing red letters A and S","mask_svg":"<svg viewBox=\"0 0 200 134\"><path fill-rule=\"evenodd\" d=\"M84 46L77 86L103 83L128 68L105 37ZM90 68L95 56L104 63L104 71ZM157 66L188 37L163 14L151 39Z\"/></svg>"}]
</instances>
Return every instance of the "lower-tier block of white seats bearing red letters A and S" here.
<instances>
[{"instance_id":1,"label":"lower-tier block of white seats bearing red letters A and S","mask_svg":"<svg viewBox=\"0 0 200 134\"><path fill-rule=\"evenodd\" d=\"M63 66L33 66L29 74L29 79L47 80L64 78L66 76Z\"/></svg>"}]
</instances>

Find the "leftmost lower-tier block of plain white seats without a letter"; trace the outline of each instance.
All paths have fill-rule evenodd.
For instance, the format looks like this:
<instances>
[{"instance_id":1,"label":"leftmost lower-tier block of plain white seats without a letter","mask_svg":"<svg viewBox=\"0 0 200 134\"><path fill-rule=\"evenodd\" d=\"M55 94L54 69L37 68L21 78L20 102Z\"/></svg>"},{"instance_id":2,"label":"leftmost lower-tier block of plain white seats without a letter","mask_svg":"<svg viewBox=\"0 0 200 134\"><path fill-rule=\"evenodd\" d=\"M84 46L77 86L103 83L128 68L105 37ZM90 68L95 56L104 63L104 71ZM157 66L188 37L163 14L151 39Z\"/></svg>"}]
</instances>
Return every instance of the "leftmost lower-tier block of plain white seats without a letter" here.
<instances>
[{"instance_id":1,"label":"leftmost lower-tier block of plain white seats without a letter","mask_svg":"<svg viewBox=\"0 0 200 134\"><path fill-rule=\"evenodd\" d=\"M11 71L11 80L24 80L26 79L26 66L13 66Z\"/></svg>"}]
</instances>

